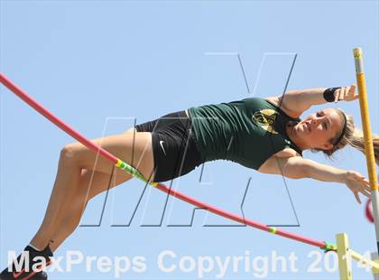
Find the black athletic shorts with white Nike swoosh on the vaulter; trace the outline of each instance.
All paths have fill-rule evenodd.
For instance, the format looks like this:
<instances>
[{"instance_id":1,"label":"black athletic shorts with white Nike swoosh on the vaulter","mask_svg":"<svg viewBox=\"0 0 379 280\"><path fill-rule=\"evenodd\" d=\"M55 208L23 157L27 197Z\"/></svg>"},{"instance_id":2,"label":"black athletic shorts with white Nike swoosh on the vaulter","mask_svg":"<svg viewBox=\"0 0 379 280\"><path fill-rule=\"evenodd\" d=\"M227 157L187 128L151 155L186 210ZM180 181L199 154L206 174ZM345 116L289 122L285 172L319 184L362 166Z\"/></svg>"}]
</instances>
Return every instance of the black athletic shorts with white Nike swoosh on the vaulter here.
<instances>
[{"instance_id":1,"label":"black athletic shorts with white Nike swoosh on the vaulter","mask_svg":"<svg viewBox=\"0 0 379 280\"><path fill-rule=\"evenodd\" d=\"M137 132L151 132L155 176L164 182L187 174L203 161L196 147L191 121L185 111L171 113L135 126Z\"/></svg>"}]
</instances>

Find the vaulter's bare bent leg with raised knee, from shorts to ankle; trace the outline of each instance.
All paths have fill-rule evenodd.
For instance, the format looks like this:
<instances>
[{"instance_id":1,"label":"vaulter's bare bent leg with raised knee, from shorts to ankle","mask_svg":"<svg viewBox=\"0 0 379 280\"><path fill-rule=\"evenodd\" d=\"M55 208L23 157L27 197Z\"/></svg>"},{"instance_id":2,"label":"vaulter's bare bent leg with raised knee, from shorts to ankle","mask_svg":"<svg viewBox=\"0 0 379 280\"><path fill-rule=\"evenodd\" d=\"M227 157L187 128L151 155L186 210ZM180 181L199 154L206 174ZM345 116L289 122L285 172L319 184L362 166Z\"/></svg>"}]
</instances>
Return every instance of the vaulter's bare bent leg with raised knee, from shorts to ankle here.
<instances>
[{"instance_id":1,"label":"vaulter's bare bent leg with raised knee, from shorts to ankle","mask_svg":"<svg viewBox=\"0 0 379 280\"><path fill-rule=\"evenodd\" d=\"M126 163L131 163L143 173L145 178L149 178L153 173L151 133L134 133L134 128L132 128L123 134L106 136L93 141ZM88 185L85 185L88 183L89 175L83 170L95 172L98 182L94 182L92 185L96 190L91 190L91 186L88 189ZM108 183L104 184L103 182L106 182L106 177L109 179L113 171L114 165L112 163L109 163L99 154L88 150L84 145L79 143L66 145L60 152L58 173L51 192L51 199L42 225L32 238L32 246L44 248L54 237L60 236L62 239L65 234L69 235L74 224L67 224L68 210L70 215L78 220L91 195L94 196L108 188ZM100 173L105 175L103 176ZM130 175L121 172L116 173L117 177L119 183L130 179Z\"/></svg>"}]
</instances>

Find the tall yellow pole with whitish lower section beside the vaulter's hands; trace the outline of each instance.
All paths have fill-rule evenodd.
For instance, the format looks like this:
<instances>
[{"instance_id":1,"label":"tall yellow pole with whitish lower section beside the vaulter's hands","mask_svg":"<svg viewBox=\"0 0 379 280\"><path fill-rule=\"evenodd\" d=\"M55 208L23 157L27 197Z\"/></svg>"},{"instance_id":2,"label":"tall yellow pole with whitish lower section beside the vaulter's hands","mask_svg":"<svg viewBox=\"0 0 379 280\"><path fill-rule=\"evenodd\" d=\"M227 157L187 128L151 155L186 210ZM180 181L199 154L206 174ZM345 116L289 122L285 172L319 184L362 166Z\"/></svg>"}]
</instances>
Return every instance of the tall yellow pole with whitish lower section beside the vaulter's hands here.
<instances>
[{"instance_id":1,"label":"tall yellow pole with whitish lower section beside the vaulter's hands","mask_svg":"<svg viewBox=\"0 0 379 280\"><path fill-rule=\"evenodd\" d=\"M359 107L361 109L362 126L365 137L365 159L367 163L368 178L370 181L371 196L374 210L374 224L376 232L376 248L379 252L379 197L378 182L376 177L376 165L374 158L373 135L371 133L370 115L368 110L367 89L365 87L364 61L361 48L353 50L356 64L356 83L359 92Z\"/></svg>"}]
</instances>

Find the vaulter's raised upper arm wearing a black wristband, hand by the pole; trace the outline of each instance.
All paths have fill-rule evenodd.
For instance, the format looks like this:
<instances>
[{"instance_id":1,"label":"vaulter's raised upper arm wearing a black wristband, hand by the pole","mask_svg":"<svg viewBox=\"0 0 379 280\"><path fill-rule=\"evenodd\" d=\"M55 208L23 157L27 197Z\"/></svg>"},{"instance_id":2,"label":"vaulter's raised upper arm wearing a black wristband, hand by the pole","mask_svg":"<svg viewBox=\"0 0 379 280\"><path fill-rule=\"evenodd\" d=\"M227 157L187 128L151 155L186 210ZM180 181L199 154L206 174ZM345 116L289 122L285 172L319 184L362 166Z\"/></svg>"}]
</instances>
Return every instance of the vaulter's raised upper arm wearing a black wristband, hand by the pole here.
<instances>
[{"instance_id":1,"label":"vaulter's raised upper arm wearing a black wristband, hand by the pole","mask_svg":"<svg viewBox=\"0 0 379 280\"><path fill-rule=\"evenodd\" d=\"M290 112L291 117L300 117L311 106L327 103L324 98L324 91L327 88L315 89L294 89L288 90L280 97L275 97L275 103L285 111ZM358 98L356 85L342 87L335 91L335 102L339 100L353 101ZM273 98L268 98L273 100Z\"/></svg>"}]
</instances>

